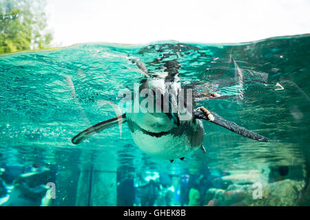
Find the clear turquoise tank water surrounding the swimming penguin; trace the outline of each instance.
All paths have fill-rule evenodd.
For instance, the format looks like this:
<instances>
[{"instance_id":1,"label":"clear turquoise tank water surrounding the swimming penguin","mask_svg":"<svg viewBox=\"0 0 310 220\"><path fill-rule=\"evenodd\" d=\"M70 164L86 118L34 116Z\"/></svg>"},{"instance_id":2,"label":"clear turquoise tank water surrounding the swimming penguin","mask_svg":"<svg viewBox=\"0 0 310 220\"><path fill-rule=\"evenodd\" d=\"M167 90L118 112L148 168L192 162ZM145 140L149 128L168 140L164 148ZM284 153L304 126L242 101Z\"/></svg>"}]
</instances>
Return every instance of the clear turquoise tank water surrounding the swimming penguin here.
<instances>
[{"instance_id":1,"label":"clear turquoise tank water surrounding the swimming penguin","mask_svg":"<svg viewBox=\"0 0 310 220\"><path fill-rule=\"evenodd\" d=\"M304 35L227 45L87 43L0 56L2 197L20 204L8 197L18 188L14 179L50 170L29 187L54 183L51 206L307 206L309 46ZM143 153L126 123L121 135L114 126L72 144L77 133L115 117L108 103L118 104L119 91L141 81L130 57L150 75L178 61L197 106L269 142L203 121L207 153L172 163ZM219 97L205 96L211 93Z\"/></svg>"}]
</instances>

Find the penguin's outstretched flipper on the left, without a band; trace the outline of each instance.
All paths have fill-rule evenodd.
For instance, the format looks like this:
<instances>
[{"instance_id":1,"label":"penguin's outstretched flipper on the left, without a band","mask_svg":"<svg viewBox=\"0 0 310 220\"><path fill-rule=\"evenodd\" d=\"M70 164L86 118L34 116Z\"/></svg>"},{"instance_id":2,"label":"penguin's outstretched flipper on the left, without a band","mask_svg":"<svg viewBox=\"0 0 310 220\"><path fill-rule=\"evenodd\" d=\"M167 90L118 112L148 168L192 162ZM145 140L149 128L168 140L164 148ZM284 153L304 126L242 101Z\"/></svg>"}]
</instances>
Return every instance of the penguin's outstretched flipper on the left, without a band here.
<instances>
[{"instance_id":1,"label":"penguin's outstretched flipper on the left, without a band","mask_svg":"<svg viewBox=\"0 0 310 220\"><path fill-rule=\"evenodd\" d=\"M75 135L71 141L73 144L79 144L83 142L83 140L85 140L86 138L94 135L95 133L99 133L103 131L103 129L107 129L116 124L119 124L121 128L121 124L124 122L126 122L126 113L90 126L88 129L85 129L84 131L81 131L80 133Z\"/></svg>"}]
</instances>

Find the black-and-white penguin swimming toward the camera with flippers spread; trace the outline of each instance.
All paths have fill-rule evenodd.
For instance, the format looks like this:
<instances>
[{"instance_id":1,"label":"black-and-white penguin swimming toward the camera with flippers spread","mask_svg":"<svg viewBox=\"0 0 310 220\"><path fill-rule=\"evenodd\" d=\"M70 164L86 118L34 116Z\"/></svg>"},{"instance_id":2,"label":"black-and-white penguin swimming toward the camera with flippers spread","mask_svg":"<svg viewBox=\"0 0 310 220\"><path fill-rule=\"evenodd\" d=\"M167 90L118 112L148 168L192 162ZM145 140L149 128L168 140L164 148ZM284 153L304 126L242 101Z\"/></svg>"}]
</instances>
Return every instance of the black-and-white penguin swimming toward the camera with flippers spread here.
<instances>
[{"instance_id":1,"label":"black-and-white penguin swimming toward the camera with flippers spread","mask_svg":"<svg viewBox=\"0 0 310 220\"><path fill-rule=\"evenodd\" d=\"M234 122L225 120L205 107L194 109L191 102L187 103L185 101L185 107L180 109L178 98L187 99L187 95L185 96L185 92L181 88L180 82L178 82L178 69L180 69L178 61L165 61L164 71L152 74L152 76L149 76L147 67L143 62L137 58L132 58L131 61L136 64L145 76L139 91L134 93L133 102L143 89L148 91L148 98L153 96L154 102L147 102L147 104L143 105L145 100L139 99L138 104L141 111L134 111L133 104L132 111L127 111L123 115L95 124L75 135L72 138L73 144L79 144L87 137L99 133L103 129L127 122L134 142L143 152L173 162L176 158L184 159L186 155L198 148L206 152L203 147L205 130L201 120L218 124L234 133L260 142L268 142L266 137L249 131ZM154 106L150 107L152 104ZM141 107L141 105L143 106ZM149 109L156 109L156 111L149 111ZM187 117L183 117L184 115L187 115ZM182 118L186 118L186 120L182 120Z\"/></svg>"}]
</instances>

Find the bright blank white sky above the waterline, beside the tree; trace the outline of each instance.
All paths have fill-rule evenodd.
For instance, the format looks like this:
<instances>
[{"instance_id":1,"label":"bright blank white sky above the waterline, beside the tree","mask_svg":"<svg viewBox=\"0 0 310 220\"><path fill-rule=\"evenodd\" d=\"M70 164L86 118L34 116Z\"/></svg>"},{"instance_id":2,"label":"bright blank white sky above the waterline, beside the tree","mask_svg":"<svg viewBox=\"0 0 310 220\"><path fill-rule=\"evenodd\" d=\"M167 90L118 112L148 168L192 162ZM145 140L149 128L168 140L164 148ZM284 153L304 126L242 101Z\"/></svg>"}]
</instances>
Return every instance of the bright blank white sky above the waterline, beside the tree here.
<instances>
[{"instance_id":1,"label":"bright blank white sky above the waterline, beside the tree","mask_svg":"<svg viewBox=\"0 0 310 220\"><path fill-rule=\"evenodd\" d=\"M54 45L240 43L310 33L310 0L48 0Z\"/></svg>"}]
</instances>

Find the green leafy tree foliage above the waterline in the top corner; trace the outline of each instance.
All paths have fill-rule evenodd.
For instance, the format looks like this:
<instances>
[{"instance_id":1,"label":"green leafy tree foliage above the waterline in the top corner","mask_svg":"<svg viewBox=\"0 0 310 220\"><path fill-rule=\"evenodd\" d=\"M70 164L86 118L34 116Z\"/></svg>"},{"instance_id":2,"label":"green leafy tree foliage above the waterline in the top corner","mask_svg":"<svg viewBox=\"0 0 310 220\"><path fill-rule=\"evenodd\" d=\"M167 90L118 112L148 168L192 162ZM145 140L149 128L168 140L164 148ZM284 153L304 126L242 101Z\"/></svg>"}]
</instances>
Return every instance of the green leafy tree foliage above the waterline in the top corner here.
<instances>
[{"instance_id":1,"label":"green leafy tree foliage above the waterline in the top corner","mask_svg":"<svg viewBox=\"0 0 310 220\"><path fill-rule=\"evenodd\" d=\"M45 0L0 0L0 54L50 47Z\"/></svg>"}]
</instances>

